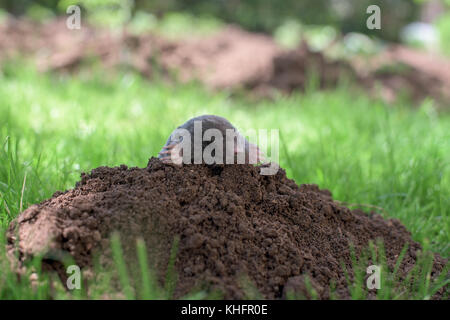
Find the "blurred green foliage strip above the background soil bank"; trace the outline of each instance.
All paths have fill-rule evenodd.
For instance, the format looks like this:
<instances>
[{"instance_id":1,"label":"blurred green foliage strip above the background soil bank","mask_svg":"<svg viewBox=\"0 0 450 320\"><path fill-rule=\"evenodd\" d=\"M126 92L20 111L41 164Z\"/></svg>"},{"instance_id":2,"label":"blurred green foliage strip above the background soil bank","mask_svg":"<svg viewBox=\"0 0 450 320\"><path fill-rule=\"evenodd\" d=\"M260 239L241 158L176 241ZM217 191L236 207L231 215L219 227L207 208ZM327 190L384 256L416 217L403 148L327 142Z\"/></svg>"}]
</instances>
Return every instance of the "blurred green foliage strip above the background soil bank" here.
<instances>
[{"instance_id":1,"label":"blurred green foliage strip above the background soil bank","mask_svg":"<svg viewBox=\"0 0 450 320\"><path fill-rule=\"evenodd\" d=\"M440 45L448 53L450 42L448 0L285 0L283 4L265 0L2 0L0 7L16 17L36 20L63 15L69 5L80 5L91 21L122 25L141 20L151 28L162 20L197 18L205 21L235 23L247 30L277 34L288 24L317 27L330 26L342 34L350 32L376 36L388 41L411 41L408 26L423 27L417 32L422 45ZM378 5L383 11L383 32L366 28L366 8ZM143 19L143 16L147 19ZM144 21L147 20L147 21ZM166 21L167 22L167 21ZM280 29L281 28L281 29ZM406 28L406 29L405 29ZM297 31L297 30L293 30ZM413 32L411 32L413 33ZM429 42L428 42L429 41Z\"/></svg>"}]
</instances>

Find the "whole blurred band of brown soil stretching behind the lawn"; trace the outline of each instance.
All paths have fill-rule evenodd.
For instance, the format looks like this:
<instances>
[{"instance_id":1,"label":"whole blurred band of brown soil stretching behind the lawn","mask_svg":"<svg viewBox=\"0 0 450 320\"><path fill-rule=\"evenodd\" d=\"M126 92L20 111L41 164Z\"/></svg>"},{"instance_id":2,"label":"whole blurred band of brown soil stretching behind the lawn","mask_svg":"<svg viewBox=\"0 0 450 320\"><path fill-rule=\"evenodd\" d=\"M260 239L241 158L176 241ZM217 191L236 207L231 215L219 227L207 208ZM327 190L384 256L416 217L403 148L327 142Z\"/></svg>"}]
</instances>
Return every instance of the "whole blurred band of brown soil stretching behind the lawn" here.
<instances>
[{"instance_id":1,"label":"whole blurred band of brown soil stretching behind the lawn","mask_svg":"<svg viewBox=\"0 0 450 320\"><path fill-rule=\"evenodd\" d=\"M368 60L331 61L306 43L282 50L271 37L236 26L209 36L169 40L88 25L69 30L64 19L37 24L11 18L0 24L0 61L18 54L31 56L44 71L74 71L95 60L107 68L137 70L147 78L162 74L167 80L199 80L211 89L245 88L263 97L270 97L273 89L304 89L309 72L315 71L321 88L336 86L345 75L388 102L403 94L417 102L432 97L443 106L450 101L450 61L443 57L393 47ZM406 70L388 70L398 64Z\"/></svg>"}]
</instances>

